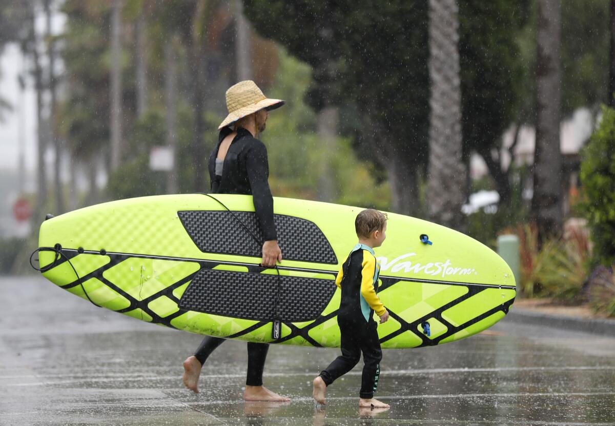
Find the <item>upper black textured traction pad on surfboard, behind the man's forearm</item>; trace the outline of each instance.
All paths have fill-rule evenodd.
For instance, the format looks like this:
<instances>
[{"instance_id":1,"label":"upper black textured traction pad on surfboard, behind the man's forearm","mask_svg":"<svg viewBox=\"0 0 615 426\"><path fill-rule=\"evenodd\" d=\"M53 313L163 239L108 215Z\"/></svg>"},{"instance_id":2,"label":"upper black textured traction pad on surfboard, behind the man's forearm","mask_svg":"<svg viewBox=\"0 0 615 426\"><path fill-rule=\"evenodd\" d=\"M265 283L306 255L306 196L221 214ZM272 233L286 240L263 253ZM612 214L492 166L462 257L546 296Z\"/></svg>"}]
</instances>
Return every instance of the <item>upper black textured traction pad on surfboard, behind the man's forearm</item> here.
<instances>
[{"instance_id":1,"label":"upper black textured traction pad on surfboard, behind the man's forearm","mask_svg":"<svg viewBox=\"0 0 615 426\"><path fill-rule=\"evenodd\" d=\"M253 212L197 210L179 211L177 214L188 235L202 252L253 257L262 255L260 244L241 225L243 223L256 238L263 241L263 233ZM276 214L274 223L284 259L334 265L338 263L327 237L314 222Z\"/></svg>"}]
</instances>

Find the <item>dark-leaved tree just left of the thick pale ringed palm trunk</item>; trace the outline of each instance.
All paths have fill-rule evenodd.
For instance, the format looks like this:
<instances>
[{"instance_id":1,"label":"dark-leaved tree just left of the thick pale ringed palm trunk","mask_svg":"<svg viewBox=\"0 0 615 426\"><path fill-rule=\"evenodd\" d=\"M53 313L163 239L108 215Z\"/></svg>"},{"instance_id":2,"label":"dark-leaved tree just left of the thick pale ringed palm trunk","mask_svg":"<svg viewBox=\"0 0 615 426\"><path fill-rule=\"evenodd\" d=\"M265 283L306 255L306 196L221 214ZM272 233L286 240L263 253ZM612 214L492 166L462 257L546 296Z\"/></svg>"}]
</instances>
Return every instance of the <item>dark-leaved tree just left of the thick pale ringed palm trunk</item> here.
<instances>
[{"instance_id":1,"label":"dark-leaved tree just left of the thick pale ringed palm trunk","mask_svg":"<svg viewBox=\"0 0 615 426\"><path fill-rule=\"evenodd\" d=\"M426 11L405 1L245 2L257 31L313 66L309 105L343 105L342 121L360 127L357 152L386 165L392 208L402 213L418 211L427 159Z\"/></svg>"}]
</instances>

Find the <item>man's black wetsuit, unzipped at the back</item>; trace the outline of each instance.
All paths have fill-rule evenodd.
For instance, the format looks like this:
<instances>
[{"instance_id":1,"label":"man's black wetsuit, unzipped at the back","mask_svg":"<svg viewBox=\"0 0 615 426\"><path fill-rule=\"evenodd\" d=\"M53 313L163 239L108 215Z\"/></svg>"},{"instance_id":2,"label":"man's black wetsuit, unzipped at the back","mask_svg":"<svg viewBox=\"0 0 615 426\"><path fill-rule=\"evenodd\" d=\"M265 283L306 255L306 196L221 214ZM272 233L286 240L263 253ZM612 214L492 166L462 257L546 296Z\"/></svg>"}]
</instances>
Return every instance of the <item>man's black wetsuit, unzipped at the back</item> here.
<instances>
[{"instance_id":1,"label":"man's black wetsuit, unzipped at the back","mask_svg":"<svg viewBox=\"0 0 615 426\"><path fill-rule=\"evenodd\" d=\"M237 129L237 135L224 157L222 175L215 174L216 157L220 143L231 134L229 127L224 127L218 137L218 145L209 158L209 175L212 193L252 195L254 208L265 241L277 239L276 225L273 221L273 197L269 189L269 163L267 149L263 142L252 136L243 127ZM201 364L226 339L205 337L194 354ZM268 344L248 342L248 372L245 384L263 385L263 368L269 350Z\"/></svg>"}]
</instances>

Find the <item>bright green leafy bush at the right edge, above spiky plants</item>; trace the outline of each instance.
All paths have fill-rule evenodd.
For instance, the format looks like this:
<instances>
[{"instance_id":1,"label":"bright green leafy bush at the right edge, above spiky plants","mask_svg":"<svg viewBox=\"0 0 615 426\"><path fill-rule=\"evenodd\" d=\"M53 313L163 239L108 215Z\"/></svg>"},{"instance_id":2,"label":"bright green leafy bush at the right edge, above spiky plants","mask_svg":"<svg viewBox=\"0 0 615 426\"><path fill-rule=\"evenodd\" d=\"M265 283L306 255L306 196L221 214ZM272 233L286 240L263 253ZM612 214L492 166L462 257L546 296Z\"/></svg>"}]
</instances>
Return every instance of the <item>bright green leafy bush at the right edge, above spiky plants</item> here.
<instances>
[{"instance_id":1,"label":"bright green leafy bush at the right edge, above spiky plants","mask_svg":"<svg viewBox=\"0 0 615 426\"><path fill-rule=\"evenodd\" d=\"M581 184L584 212L595 244L596 260L615 262L615 110L602 107L600 126L583 151Z\"/></svg>"}]
</instances>

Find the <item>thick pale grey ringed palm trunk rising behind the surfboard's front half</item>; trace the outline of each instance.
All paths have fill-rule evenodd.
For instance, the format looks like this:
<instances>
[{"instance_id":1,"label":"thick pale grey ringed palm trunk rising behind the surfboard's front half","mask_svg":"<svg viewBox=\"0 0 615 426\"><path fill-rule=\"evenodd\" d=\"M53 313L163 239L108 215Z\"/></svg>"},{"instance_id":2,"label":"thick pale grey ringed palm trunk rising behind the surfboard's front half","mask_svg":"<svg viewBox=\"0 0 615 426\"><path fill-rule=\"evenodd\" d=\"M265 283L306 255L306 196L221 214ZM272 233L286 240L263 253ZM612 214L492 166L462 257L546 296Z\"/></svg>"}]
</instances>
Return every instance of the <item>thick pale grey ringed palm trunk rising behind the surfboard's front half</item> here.
<instances>
[{"instance_id":1,"label":"thick pale grey ringed palm trunk rising behind the surfboard's front half","mask_svg":"<svg viewBox=\"0 0 615 426\"><path fill-rule=\"evenodd\" d=\"M459 8L456 0L429 0L429 217L463 230L466 169L462 161Z\"/></svg>"}]
</instances>

